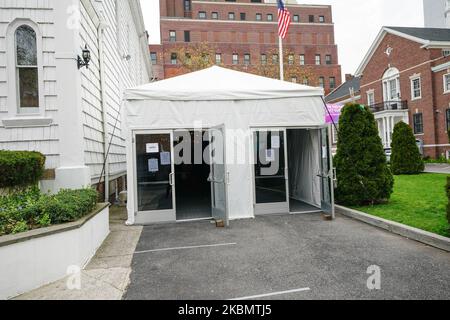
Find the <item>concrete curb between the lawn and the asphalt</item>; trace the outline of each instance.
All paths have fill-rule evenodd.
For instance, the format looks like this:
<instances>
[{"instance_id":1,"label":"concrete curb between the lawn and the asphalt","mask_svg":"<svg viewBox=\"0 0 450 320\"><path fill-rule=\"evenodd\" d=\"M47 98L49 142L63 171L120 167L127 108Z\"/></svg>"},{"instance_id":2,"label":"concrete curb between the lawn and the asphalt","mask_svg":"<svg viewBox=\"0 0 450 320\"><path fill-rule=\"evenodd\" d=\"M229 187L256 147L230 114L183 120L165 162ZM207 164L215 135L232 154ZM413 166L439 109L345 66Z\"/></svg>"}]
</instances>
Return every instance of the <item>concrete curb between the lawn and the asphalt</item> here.
<instances>
[{"instance_id":1,"label":"concrete curb between the lawn and the asphalt","mask_svg":"<svg viewBox=\"0 0 450 320\"><path fill-rule=\"evenodd\" d=\"M336 212L346 217L401 235L408 239L419 241L429 246L450 252L450 238L338 205L336 205Z\"/></svg>"}]
</instances>

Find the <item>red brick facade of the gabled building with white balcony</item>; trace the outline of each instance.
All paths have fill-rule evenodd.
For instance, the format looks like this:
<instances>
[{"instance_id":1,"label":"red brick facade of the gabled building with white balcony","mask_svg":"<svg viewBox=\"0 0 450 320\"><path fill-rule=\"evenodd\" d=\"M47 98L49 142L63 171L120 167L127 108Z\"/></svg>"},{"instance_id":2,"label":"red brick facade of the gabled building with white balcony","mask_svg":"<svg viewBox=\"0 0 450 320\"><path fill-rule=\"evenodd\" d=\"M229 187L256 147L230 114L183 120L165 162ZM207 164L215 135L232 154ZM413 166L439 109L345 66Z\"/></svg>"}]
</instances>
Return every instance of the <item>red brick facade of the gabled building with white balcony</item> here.
<instances>
[{"instance_id":1,"label":"red brick facade of the gabled building with white balcony","mask_svg":"<svg viewBox=\"0 0 450 320\"><path fill-rule=\"evenodd\" d=\"M435 158L450 150L446 116L450 93L444 93L444 74L450 69L444 65L444 70L435 72L432 68L449 62L450 57L444 57L442 49L421 47L421 43L387 33L362 71L360 102L368 104L370 91L374 93L375 104L386 100L383 75L390 68L398 69L401 100L407 102L409 123L414 127L414 114L422 114L423 133L416 134L416 138L423 142L424 155ZM411 78L419 76L421 98L413 99Z\"/></svg>"}]
</instances>

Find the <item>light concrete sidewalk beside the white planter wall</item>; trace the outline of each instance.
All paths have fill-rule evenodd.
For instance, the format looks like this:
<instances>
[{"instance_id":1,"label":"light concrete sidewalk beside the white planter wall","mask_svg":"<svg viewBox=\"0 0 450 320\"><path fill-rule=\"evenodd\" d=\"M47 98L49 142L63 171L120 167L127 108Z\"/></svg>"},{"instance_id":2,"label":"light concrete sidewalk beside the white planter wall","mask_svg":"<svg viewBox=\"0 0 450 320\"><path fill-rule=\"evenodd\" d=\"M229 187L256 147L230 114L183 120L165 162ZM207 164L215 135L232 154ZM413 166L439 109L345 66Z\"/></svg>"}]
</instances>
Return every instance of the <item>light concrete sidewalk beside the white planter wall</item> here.
<instances>
[{"instance_id":1,"label":"light concrete sidewalk beside the white planter wall","mask_svg":"<svg viewBox=\"0 0 450 320\"><path fill-rule=\"evenodd\" d=\"M110 208L111 233L81 272L81 289L69 290L67 278L25 293L18 300L120 300L130 282L131 260L142 227L125 226L126 210Z\"/></svg>"}]
</instances>

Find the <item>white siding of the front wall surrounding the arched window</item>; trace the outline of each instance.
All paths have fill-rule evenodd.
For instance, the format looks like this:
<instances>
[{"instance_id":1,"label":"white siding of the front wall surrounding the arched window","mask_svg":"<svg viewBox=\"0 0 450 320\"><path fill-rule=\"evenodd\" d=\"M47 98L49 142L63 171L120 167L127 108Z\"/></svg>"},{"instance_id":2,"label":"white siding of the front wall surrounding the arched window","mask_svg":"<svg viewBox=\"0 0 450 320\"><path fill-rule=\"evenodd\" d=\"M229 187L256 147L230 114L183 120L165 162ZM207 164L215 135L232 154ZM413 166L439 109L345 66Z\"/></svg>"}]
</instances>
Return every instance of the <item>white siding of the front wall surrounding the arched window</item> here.
<instances>
[{"instance_id":1,"label":"white siding of the front wall surrounding the arched window","mask_svg":"<svg viewBox=\"0 0 450 320\"><path fill-rule=\"evenodd\" d=\"M54 10L51 0L0 0L0 149L40 151L46 156L46 168L59 166L59 141L56 105L55 73L55 29ZM8 55L14 54L7 48L6 32L16 18L30 19L39 26L42 35L43 103L46 117L52 117L48 127L4 128L1 120L14 118L8 113ZM9 50L7 50L9 49ZM8 66L9 67L9 66Z\"/></svg>"}]
</instances>

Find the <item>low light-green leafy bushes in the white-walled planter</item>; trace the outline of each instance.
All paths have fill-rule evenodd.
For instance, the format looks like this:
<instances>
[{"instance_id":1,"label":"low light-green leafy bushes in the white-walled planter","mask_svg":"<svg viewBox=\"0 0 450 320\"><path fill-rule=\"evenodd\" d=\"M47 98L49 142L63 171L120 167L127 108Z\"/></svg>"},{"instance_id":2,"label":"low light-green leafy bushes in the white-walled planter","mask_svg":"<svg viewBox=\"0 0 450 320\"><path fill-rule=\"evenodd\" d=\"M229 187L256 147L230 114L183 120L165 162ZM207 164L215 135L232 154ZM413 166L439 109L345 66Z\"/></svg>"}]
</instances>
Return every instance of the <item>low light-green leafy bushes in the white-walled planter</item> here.
<instances>
[{"instance_id":1,"label":"low light-green leafy bushes in the white-walled planter","mask_svg":"<svg viewBox=\"0 0 450 320\"><path fill-rule=\"evenodd\" d=\"M0 197L0 236L78 220L96 203L97 192L90 188L48 195L31 187Z\"/></svg>"}]
</instances>

